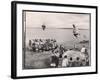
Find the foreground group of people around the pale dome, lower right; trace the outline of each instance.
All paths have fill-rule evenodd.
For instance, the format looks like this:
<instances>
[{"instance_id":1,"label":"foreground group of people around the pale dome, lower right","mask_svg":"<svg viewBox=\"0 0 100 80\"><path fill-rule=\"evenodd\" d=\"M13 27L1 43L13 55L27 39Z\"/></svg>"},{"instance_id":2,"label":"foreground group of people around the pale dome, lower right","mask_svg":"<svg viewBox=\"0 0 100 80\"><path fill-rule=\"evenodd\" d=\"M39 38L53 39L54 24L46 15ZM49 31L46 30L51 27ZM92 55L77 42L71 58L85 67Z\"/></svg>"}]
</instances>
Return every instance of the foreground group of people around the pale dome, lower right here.
<instances>
[{"instance_id":1,"label":"foreground group of people around the pale dome, lower right","mask_svg":"<svg viewBox=\"0 0 100 80\"><path fill-rule=\"evenodd\" d=\"M68 56L68 54L73 54L73 56ZM89 54L85 46L78 52L76 57L74 56L75 51L67 50L62 52L54 51L51 56L51 67L78 67L78 66L87 66L89 65ZM81 56L79 57L79 55ZM62 57L61 57L61 56Z\"/></svg>"}]
</instances>

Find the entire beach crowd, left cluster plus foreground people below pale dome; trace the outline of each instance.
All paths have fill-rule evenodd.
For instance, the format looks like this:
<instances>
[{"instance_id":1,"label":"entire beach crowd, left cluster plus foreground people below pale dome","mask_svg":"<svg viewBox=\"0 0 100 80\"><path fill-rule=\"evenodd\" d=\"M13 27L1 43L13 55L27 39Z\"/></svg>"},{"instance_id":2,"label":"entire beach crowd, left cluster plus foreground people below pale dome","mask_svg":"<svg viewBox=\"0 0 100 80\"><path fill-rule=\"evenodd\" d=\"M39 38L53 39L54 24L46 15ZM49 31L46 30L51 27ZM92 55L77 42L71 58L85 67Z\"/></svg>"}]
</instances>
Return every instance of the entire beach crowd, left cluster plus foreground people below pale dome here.
<instances>
[{"instance_id":1,"label":"entire beach crowd, left cluster plus foreground people below pale dome","mask_svg":"<svg viewBox=\"0 0 100 80\"><path fill-rule=\"evenodd\" d=\"M73 51L72 49L66 49L63 45L58 45L55 39L33 39L29 40L30 50L34 52L44 52L50 51L51 59L50 66L51 67L59 67L59 63L61 67L74 67L74 66L86 66L89 65L89 55L88 51L83 46L79 51L81 54L85 56L84 59L81 57L76 57L73 60L73 57L68 55L64 55L66 52Z\"/></svg>"}]
</instances>

